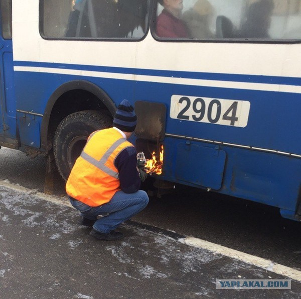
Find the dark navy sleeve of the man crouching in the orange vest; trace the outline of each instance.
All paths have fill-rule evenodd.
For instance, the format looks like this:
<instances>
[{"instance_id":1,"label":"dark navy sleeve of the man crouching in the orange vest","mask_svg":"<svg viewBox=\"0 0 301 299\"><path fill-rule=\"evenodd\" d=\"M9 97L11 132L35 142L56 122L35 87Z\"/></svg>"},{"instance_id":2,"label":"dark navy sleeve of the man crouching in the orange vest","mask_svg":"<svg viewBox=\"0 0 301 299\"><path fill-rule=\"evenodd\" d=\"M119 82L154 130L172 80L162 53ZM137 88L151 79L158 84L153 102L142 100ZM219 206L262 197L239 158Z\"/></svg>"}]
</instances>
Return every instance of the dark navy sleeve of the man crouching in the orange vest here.
<instances>
[{"instance_id":1,"label":"dark navy sleeve of the man crouching in the orange vest","mask_svg":"<svg viewBox=\"0 0 301 299\"><path fill-rule=\"evenodd\" d=\"M115 159L115 167L119 172L120 188L125 193L134 193L140 188L137 171L137 154L134 147L122 150Z\"/></svg>"}]
</instances>

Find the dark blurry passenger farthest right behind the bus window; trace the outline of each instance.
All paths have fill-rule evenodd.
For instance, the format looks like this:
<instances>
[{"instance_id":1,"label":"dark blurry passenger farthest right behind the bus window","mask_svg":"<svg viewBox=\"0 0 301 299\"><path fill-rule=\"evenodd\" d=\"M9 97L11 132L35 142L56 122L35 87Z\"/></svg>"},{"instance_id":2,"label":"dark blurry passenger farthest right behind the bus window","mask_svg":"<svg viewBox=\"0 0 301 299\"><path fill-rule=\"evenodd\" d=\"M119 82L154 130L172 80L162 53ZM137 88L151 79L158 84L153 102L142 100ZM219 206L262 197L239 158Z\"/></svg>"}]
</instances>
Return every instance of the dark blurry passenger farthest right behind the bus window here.
<instances>
[{"instance_id":1,"label":"dark blurry passenger farthest right behind the bus window","mask_svg":"<svg viewBox=\"0 0 301 299\"><path fill-rule=\"evenodd\" d=\"M269 27L274 9L273 0L259 0L250 5L244 24L241 27L241 38L270 38Z\"/></svg>"}]
</instances>

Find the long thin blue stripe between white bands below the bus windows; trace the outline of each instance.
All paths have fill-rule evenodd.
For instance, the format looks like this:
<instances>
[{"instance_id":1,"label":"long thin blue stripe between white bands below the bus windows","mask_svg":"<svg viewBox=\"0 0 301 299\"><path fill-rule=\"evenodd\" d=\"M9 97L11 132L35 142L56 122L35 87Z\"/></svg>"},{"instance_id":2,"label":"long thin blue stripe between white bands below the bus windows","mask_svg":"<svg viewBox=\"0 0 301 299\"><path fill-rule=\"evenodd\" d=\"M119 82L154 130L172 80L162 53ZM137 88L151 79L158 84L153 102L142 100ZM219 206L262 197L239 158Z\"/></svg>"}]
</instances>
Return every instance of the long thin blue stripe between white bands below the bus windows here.
<instances>
[{"instance_id":1,"label":"long thin blue stripe between white bands below the bus windows","mask_svg":"<svg viewBox=\"0 0 301 299\"><path fill-rule=\"evenodd\" d=\"M94 66L94 65L66 64L66 63L63 64L63 63L33 62L33 61L14 61L14 66L63 68L63 69L160 76L160 77L175 77L175 78L188 78L188 79L301 86L301 78L298 77L222 74L222 73L205 73L205 72L191 72L191 71L169 71L169 70L156 70L156 69L142 69L142 68L128 68L128 67L114 67L114 66Z\"/></svg>"}]
</instances>

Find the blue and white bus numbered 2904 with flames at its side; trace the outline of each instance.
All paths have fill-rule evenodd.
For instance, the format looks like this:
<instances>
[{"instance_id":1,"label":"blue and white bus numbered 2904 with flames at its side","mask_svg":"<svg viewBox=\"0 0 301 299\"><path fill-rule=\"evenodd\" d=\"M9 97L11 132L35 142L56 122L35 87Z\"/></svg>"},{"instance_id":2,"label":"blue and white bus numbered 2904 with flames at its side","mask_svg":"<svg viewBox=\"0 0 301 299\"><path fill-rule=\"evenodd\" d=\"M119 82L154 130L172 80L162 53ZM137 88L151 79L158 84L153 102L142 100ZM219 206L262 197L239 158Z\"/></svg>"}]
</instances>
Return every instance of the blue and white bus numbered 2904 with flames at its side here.
<instances>
[{"instance_id":1,"label":"blue and white bus numbered 2904 with flames at its side","mask_svg":"<svg viewBox=\"0 0 301 299\"><path fill-rule=\"evenodd\" d=\"M301 220L301 0L0 4L0 145L66 178L126 98L159 180Z\"/></svg>"}]
</instances>

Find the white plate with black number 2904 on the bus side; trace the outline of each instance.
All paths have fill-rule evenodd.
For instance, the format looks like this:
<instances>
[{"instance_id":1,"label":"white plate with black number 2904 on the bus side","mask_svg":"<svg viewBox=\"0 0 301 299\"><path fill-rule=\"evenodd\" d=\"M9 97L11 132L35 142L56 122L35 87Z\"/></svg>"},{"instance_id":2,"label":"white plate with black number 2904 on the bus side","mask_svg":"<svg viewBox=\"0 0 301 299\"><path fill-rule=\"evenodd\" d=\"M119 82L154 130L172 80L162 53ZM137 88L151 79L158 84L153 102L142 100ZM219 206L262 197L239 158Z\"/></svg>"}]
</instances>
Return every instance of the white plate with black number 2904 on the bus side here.
<instances>
[{"instance_id":1,"label":"white plate with black number 2904 on the bus side","mask_svg":"<svg viewBox=\"0 0 301 299\"><path fill-rule=\"evenodd\" d=\"M244 128L250 102L234 99L172 95L170 117L178 120Z\"/></svg>"}]
</instances>

